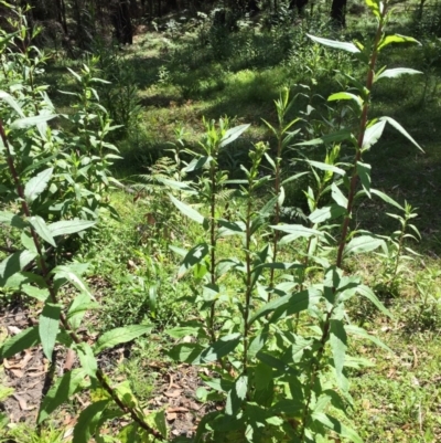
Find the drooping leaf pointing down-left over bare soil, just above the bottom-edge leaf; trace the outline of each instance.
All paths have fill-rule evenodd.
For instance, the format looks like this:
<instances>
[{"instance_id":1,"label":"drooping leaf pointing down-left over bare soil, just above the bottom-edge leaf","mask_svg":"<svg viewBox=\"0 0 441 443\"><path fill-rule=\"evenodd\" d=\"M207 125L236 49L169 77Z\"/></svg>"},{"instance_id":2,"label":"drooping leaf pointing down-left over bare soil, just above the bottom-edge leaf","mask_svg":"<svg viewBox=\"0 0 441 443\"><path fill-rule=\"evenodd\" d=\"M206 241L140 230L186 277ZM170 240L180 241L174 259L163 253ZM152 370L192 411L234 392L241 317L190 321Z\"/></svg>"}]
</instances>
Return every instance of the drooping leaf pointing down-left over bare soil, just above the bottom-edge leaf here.
<instances>
[{"instance_id":1,"label":"drooping leaf pointing down-left over bare soil, just above the bottom-edge leaf","mask_svg":"<svg viewBox=\"0 0 441 443\"><path fill-rule=\"evenodd\" d=\"M63 377L58 378L43 398L36 423L42 423L60 405L71 400L71 398L79 391L79 388L83 388L84 384L87 383L85 378L86 372L83 368L68 371Z\"/></svg>"}]
</instances>

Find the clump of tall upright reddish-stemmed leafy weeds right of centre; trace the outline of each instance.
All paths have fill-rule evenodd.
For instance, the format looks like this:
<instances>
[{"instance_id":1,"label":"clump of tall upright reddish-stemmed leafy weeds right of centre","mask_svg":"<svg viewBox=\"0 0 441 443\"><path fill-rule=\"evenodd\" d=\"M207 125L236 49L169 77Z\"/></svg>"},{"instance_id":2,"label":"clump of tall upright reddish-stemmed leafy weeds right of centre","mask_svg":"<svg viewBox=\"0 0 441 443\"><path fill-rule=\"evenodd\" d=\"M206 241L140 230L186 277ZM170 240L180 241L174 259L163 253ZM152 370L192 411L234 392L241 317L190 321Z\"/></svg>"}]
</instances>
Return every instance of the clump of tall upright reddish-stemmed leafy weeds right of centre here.
<instances>
[{"instance_id":1,"label":"clump of tall upright reddish-stemmed leafy weeds right of centre","mask_svg":"<svg viewBox=\"0 0 441 443\"><path fill-rule=\"evenodd\" d=\"M212 412L201 421L194 439L196 442L233 439L312 443L329 435L334 440L344 437L361 442L358 434L347 425L348 420L342 419L353 402L346 368L363 366L362 359L347 355L348 340L355 336L386 350L388 348L375 336L352 324L345 305L358 295L369 299L383 314L390 314L361 277L344 273L346 259L385 246L384 238L353 230L351 221L357 200L365 196L377 196L400 208L391 198L370 186L372 166L364 162L363 155L378 141L387 123L419 148L394 119L369 119L372 91L376 82L418 72L377 68L377 57L384 48L392 43L417 42L402 35L385 34L390 18L387 2L367 0L366 3L377 19L372 41L362 44L310 35L318 44L348 52L366 68L364 83L342 73L348 81L351 92L338 92L329 97L329 102L348 103L357 125L346 126L341 120L336 131L297 144L329 147L324 162L308 161L318 181L315 192L311 189L305 191L311 224L271 225L271 230L287 235L277 236L276 251L280 254L270 253L272 241L265 243L263 239L268 235L261 233L267 230L266 220L273 214L275 208L273 220L280 221L277 217L280 205L270 203L261 210L256 208L255 190L268 181L256 172L265 155L265 145L257 145L250 154L251 168L247 170L243 167L246 176L240 188L245 200L243 215L236 221L218 220L222 229L217 235L224 239L239 236L243 252L240 256L217 259L224 288L209 284L203 288L203 293L211 297L227 298L227 294L235 294L234 303L228 305L229 319L218 325L215 341L213 337L207 339L204 328L195 324L169 330L172 337L190 335L196 338L195 342L178 345L171 355L181 361L207 366L209 376L203 376L207 387L205 399L218 399L219 395L225 399L222 411ZM287 107L288 99L282 96L280 115L283 116ZM342 115L341 109L338 115ZM280 172L281 148L287 137L284 127L281 124L276 130L279 149L277 158L270 161L276 177ZM290 144L289 138L287 143ZM349 150L353 152L352 161L347 160L351 158ZM341 152L345 154L344 162L338 162ZM322 196L326 192L331 194L331 202L323 205ZM275 198L279 199L280 194L281 188L277 186ZM280 204L280 200L278 202ZM196 222L205 223L202 214L196 217L189 208L178 208ZM299 239L308 240L305 252L294 253L289 262L276 260L286 257L284 245L297 244ZM196 263L197 260L193 262L194 265ZM314 263L314 268L305 276L309 263ZM266 274L263 270L300 272L294 276L276 276L272 272ZM217 305L214 305L216 308ZM207 342L205 346L204 341Z\"/></svg>"}]
</instances>

